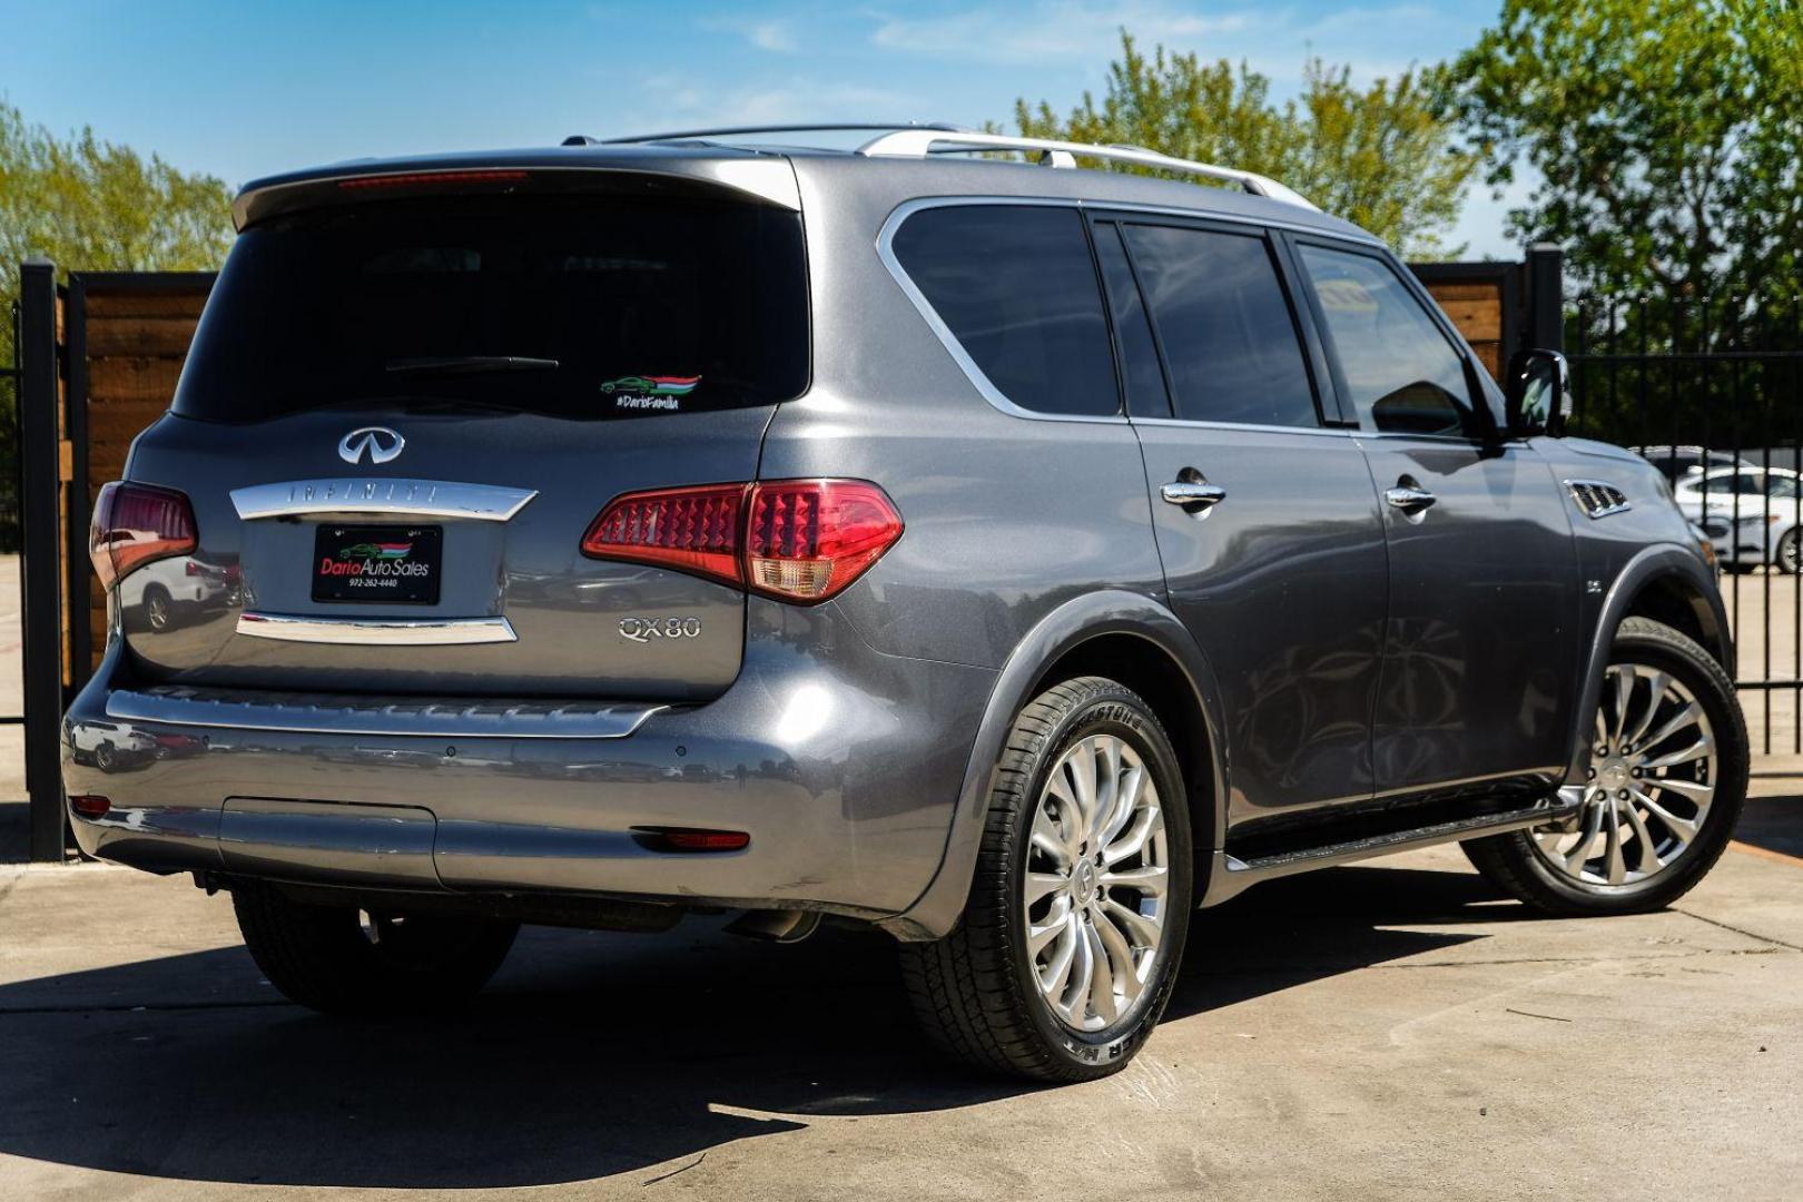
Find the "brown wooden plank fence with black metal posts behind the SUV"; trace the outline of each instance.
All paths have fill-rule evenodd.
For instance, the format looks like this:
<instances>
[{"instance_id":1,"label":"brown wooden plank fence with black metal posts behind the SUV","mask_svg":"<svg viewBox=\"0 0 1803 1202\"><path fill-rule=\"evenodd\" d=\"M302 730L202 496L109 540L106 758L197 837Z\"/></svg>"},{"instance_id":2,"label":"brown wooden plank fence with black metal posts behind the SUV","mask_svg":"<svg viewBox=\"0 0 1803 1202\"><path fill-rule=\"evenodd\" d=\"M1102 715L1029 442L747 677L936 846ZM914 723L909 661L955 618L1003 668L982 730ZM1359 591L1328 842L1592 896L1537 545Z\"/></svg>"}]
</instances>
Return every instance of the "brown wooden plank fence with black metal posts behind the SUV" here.
<instances>
[{"instance_id":1,"label":"brown wooden plank fence with black metal posts behind the SUV","mask_svg":"<svg viewBox=\"0 0 1803 1202\"><path fill-rule=\"evenodd\" d=\"M1522 346L1558 346L1558 250L1531 250L1524 263L1414 270L1491 375L1500 378ZM87 548L94 499L124 474L132 440L168 409L211 290L211 272L72 272L59 288L50 263L22 269L25 788L38 860L65 849L61 712L106 649L106 598ZM1551 326L1536 321L1549 306Z\"/></svg>"}]
</instances>

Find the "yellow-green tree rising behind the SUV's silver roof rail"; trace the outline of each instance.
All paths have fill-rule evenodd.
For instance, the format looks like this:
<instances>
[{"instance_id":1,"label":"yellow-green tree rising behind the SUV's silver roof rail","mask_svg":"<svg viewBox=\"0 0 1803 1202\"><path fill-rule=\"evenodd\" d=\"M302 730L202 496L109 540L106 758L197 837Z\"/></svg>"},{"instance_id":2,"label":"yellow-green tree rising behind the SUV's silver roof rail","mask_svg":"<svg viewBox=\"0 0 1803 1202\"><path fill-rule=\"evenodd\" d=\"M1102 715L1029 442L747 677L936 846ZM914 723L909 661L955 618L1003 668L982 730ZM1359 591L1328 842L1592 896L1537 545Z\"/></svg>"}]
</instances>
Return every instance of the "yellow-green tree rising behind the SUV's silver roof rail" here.
<instances>
[{"instance_id":1,"label":"yellow-green tree rising behind the SUV's silver roof rail","mask_svg":"<svg viewBox=\"0 0 1803 1202\"><path fill-rule=\"evenodd\" d=\"M1067 117L1046 101L1015 101L1028 137L1127 142L1159 153L1257 171L1327 213L1363 225L1415 258L1450 258L1441 238L1459 218L1477 160L1453 148L1437 97L1444 68L1352 83L1345 67L1309 59L1302 94L1271 99L1269 77L1228 59L1156 47L1143 54L1121 31L1107 94L1089 92ZM1118 171L1141 171L1109 164Z\"/></svg>"}]
</instances>

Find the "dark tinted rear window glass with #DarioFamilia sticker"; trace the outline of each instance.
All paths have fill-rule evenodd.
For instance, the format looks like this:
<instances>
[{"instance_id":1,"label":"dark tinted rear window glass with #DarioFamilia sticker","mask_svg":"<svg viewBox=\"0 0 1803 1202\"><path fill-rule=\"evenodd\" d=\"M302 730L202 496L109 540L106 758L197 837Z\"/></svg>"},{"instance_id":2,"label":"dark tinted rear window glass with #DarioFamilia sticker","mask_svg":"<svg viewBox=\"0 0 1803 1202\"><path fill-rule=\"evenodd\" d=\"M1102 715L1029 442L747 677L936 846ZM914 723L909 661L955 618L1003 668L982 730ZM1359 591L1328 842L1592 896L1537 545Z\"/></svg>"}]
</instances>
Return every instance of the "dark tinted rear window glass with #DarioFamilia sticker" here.
<instances>
[{"instance_id":1,"label":"dark tinted rear window glass with #DarioFamilia sticker","mask_svg":"<svg viewBox=\"0 0 1803 1202\"><path fill-rule=\"evenodd\" d=\"M238 238L175 413L472 404L559 418L761 405L808 384L801 218L763 205L463 196Z\"/></svg>"}]
</instances>

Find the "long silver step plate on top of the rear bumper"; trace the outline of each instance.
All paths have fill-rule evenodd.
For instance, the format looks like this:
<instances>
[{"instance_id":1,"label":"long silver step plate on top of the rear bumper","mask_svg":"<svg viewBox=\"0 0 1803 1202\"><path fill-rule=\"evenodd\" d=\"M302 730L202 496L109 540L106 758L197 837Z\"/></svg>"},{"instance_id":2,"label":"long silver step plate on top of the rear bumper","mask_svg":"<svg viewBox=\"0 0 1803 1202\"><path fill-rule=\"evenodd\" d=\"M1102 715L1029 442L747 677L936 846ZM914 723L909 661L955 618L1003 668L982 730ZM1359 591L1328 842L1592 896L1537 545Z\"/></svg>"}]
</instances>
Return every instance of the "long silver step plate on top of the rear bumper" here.
<instances>
[{"instance_id":1,"label":"long silver step plate on top of the rear bumper","mask_svg":"<svg viewBox=\"0 0 1803 1202\"><path fill-rule=\"evenodd\" d=\"M330 694L188 688L119 688L106 715L128 723L261 730L307 735L431 739L624 739L667 705L593 701L375 699Z\"/></svg>"}]
</instances>

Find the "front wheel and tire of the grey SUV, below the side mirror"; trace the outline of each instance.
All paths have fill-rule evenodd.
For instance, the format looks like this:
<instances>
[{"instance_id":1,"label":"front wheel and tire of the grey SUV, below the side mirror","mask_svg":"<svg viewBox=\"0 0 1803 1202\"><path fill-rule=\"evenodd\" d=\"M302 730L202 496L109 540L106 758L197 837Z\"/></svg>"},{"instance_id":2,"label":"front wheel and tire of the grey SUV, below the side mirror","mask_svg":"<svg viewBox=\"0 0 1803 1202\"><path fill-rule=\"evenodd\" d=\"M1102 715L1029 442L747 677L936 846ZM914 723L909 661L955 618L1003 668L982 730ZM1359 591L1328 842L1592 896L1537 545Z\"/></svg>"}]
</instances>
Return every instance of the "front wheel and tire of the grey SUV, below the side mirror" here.
<instances>
[{"instance_id":1,"label":"front wheel and tire of the grey SUV, below the side mirror","mask_svg":"<svg viewBox=\"0 0 1803 1202\"><path fill-rule=\"evenodd\" d=\"M1646 618L1615 634L1576 816L1464 843L1504 892L1547 914L1668 906L1715 865L1747 798L1734 683L1693 640Z\"/></svg>"}]
</instances>

